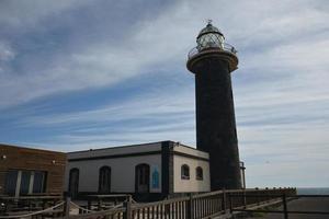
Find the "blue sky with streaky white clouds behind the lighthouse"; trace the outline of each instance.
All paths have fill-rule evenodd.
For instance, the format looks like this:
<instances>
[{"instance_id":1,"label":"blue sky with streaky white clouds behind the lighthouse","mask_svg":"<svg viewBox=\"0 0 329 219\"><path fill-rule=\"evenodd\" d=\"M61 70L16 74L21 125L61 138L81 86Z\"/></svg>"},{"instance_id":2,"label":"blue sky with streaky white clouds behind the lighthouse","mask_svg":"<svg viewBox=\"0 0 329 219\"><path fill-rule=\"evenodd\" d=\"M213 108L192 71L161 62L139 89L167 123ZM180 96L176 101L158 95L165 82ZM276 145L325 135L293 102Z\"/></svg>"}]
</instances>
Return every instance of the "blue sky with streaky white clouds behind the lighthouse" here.
<instances>
[{"instance_id":1,"label":"blue sky with streaky white clouds behind the lighthouse","mask_svg":"<svg viewBox=\"0 0 329 219\"><path fill-rule=\"evenodd\" d=\"M206 21L232 72L248 187L329 187L329 2L0 1L0 142L195 147L188 53Z\"/></svg>"}]
</instances>

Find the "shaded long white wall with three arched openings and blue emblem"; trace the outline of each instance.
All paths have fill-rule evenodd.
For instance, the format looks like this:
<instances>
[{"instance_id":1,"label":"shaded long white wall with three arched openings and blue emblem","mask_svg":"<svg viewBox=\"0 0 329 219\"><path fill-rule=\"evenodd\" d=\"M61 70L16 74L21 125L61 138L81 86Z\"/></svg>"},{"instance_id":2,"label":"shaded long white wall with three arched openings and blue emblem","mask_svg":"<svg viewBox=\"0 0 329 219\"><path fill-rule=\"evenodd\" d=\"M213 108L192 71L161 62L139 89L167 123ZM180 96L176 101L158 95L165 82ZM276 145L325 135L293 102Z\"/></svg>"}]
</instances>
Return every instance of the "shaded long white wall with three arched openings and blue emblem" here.
<instances>
[{"instance_id":1,"label":"shaded long white wall with three arched openings and blue emblem","mask_svg":"<svg viewBox=\"0 0 329 219\"><path fill-rule=\"evenodd\" d=\"M99 170L107 165L111 168L111 192L134 193L135 166L140 163L150 165L150 193L161 193L161 154L68 162L65 176L66 191L68 191L69 171L78 168L79 192L98 192ZM152 188L151 175L155 169L159 172L159 188Z\"/></svg>"}]
</instances>

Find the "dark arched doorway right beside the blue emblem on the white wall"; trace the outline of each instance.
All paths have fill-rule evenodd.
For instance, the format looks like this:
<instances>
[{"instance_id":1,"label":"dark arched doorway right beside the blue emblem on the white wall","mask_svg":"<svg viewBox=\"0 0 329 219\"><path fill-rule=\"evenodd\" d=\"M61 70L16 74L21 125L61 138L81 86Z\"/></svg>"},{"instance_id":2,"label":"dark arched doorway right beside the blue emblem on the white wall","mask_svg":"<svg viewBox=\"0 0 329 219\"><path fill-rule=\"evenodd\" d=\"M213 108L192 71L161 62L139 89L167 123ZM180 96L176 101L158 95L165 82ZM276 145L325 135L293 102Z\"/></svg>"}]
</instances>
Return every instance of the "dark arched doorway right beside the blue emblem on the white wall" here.
<instances>
[{"instance_id":1,"label":"dark arched doorway right beside the blue emblem on the white wall","mask_svg":"<svg viewBox=\"0 0 329 219\"><path fill-rule=\"evenodd\" d=\"M149 164L141 163L135 168L136 193L149 193Z\"/></svg>"}]
</instances>

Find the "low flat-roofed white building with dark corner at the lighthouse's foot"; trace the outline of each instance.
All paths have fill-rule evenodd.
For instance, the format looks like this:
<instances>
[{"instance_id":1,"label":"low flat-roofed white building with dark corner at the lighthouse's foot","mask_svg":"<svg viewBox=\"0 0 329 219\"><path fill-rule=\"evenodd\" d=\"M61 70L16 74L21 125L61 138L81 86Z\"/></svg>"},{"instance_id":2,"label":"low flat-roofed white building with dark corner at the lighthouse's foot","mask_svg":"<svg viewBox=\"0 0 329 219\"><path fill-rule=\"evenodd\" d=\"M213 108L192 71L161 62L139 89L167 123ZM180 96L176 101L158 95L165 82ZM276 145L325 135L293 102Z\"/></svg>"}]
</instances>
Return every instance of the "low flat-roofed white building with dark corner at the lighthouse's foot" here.
<instances>
[{"instance_id":1,"label":"low flat-roofed white building with dark corner at the lighthouse's foot","mask_svg":"<svg viewBox=\"0 0 329 219\"><path fill-rule=\"evenodd\" d=\"M173 141L69 152L66 191L163 198L209 192L209 155Z\"/></svg>"}]
</instances>

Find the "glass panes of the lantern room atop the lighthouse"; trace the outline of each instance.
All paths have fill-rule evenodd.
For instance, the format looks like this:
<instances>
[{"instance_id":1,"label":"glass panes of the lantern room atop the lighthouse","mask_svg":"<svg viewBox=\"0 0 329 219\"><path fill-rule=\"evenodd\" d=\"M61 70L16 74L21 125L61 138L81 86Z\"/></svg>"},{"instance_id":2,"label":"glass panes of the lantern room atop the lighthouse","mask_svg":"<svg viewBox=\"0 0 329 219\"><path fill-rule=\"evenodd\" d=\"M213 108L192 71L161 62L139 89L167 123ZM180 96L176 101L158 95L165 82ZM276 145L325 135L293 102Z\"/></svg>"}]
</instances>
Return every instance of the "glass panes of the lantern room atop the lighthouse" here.
<instances>
[{"instance_id":1,"label":"glass panes of the lantern room atop the lighthouse","mask_svg":"<svg viewBox=\"0 0 329 219\"><path fill-rule=\"evenodd\" d=\"M205 48L224 48L224 37L217 33L207 33L200 36L196 41L197 50Z\"/></svg>"}]
</instances>

